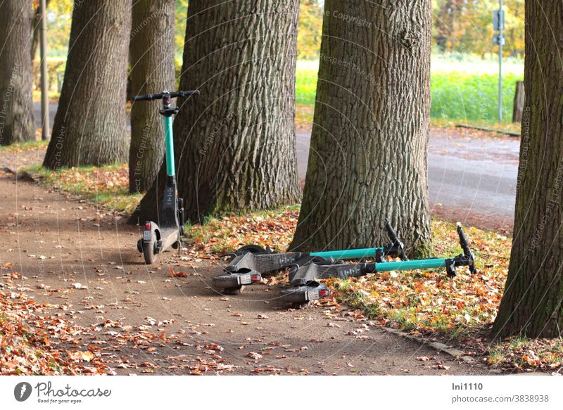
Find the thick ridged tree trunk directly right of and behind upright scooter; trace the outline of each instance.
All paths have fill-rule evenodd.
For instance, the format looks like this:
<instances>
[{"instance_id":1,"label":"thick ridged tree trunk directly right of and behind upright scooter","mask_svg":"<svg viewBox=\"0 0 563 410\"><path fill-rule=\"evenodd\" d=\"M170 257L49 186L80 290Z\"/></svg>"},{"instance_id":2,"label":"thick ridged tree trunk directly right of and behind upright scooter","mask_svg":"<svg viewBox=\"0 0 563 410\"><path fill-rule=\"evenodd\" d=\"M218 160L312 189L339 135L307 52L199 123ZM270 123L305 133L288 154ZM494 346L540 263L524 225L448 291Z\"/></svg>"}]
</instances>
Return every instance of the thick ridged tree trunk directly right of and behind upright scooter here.
<instances>
[{"instance_id":1,"label":"thick ridged tree trunk directly right of and behind upright scooter","mask_svg":"<svg viewBox=\"0 0 563 410\"><path fill-rule=\"evenodd\" d=\"M298 1L191 0L174 123L179 196L192 222L296 203ZM132 222L155 220L164 167Z\"/></svg>"}]
</instances>

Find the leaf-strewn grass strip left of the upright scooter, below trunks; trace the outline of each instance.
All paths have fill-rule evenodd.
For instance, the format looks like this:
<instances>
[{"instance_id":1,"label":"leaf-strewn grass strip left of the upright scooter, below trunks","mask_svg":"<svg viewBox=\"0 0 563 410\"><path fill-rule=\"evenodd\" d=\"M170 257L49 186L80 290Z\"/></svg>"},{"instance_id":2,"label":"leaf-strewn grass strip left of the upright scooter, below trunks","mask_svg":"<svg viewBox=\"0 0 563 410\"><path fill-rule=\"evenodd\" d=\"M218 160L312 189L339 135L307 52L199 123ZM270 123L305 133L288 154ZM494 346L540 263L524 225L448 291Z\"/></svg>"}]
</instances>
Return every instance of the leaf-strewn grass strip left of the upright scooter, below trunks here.
<instances>
[{"instance_id":1,"label":"leaf-strewn grass strip left of the upright scooter, below trunks","mask_svg":"<svg viewBox=\"0 0 563 410\"><path fill-rule=\"evenodd\" d=\"M25 169L25 172L39 178L45 186L75 193L111 211L130 213L142 198L140 193L129 193L127 164L71 167L56 171L36 165Z\"/></svg>"}]
</instances>

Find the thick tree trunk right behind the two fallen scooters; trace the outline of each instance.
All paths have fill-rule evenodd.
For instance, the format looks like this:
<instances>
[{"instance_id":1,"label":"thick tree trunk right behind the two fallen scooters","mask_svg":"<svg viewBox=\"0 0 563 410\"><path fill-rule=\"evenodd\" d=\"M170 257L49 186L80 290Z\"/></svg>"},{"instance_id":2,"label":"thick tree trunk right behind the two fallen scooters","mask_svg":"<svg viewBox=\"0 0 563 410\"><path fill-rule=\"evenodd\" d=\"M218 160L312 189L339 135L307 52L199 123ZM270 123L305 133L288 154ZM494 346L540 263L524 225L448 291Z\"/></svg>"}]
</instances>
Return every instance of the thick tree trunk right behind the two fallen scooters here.
<instances>
[{"instance_id":1,"label":"thick tree trunk right behind the two fallen scooters","mask_svg":"<svg viewBox=\"0 0 563 410\"><path fill-rule=\"evenodd\" d=\"M324 3L317 103L291 248L381 245L389 217L411 255L430 249L431 4Z\"/></svg>"}]
</instances>

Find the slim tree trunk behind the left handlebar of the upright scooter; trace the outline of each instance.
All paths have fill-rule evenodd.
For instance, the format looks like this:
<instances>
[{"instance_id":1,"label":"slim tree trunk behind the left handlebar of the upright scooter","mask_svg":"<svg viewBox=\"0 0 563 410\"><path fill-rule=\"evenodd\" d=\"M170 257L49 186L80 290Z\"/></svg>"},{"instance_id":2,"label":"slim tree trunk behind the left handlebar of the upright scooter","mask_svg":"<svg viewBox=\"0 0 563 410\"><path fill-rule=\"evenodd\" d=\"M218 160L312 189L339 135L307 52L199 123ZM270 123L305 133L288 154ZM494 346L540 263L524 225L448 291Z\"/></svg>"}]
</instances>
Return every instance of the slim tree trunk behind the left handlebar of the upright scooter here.
<instances>
[{"instance_id":1,"label":"slim tree trunk behind the left handlebar of the upright scooter","mask_svg":"<svg viewBox=\"0 0 563 410\"><path fill-rule=\"evenodd\" d=\"M131 85L134 96L156 94L175 87L175 0L140 0L133 4L131 30ZM129 192L151 187L164 158L164 125L158 114L161 101L131 107Z\"/></svg>"}]
</instances>

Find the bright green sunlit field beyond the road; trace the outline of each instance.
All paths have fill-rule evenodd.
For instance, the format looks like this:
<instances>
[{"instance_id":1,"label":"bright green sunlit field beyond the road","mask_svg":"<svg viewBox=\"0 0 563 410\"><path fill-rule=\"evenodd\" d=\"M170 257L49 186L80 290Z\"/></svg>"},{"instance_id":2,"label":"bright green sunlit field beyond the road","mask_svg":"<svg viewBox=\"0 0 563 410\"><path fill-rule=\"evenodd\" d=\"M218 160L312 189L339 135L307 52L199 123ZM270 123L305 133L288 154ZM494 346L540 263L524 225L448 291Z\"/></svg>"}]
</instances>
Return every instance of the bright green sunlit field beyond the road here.
<instances>
[{"instance_id":1,"label":"bright green sunlit field beyond the road","mask_svg":"<svg viewBox=\"0 0 563 410\"><path fill-rule=\"evenodd\" d=\"M496 122L498 116L498 62L481 58L433 58L431 118L457 122ZM315 105L318 63L298 61L296 103ZM503 117L512 119L514 87L524 78L524 65L507 60L502 79Z\"/></svg>"}]
</instances>

